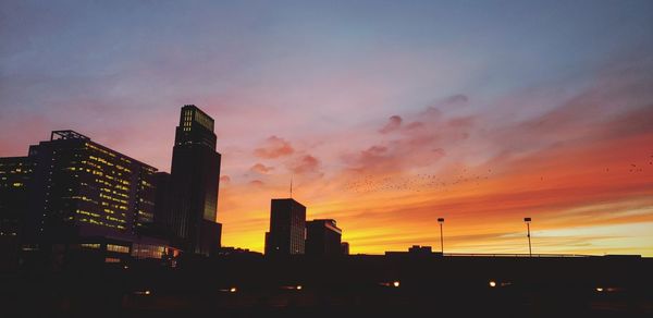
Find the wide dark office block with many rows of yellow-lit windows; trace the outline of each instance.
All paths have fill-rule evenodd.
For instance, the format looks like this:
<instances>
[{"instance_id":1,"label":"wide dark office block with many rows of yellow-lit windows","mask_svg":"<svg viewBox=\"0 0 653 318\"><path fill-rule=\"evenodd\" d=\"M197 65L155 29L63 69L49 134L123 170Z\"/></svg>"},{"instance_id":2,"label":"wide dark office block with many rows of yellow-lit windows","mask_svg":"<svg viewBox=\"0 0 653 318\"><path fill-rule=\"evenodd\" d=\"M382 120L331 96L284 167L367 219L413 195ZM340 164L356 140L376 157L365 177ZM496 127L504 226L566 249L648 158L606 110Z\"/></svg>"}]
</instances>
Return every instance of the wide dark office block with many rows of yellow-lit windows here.
<instances>
[{"instance_id":1,"label":"wide dark office block with many rows of yellow-lit windows","mask_svg":"<svg viewBox=\"0 0 653 318\"><path fill-rule=\"evenodd\" d=\"M28 158L30 241L128 240L152 222L157 169L73 131L52 132L50 140L29 147Z\"/></svg>"}]
</instances>

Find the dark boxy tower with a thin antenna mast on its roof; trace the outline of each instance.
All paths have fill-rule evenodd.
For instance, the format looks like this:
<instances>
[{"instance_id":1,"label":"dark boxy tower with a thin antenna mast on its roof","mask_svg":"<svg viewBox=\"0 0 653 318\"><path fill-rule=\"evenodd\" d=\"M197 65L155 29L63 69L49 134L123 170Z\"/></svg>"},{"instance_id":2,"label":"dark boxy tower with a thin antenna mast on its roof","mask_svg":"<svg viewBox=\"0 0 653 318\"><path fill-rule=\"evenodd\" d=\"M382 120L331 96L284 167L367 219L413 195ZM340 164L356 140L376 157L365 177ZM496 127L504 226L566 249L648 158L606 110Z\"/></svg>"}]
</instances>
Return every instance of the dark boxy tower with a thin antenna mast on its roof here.
<instances>
[{"instance_id":1,"label":"dark boxy tower with a thin antenna mast on its roof","mask_svg":"<svg viewBox=\"0 0 653 318\"><path fill-rule=\"evenodd\" d=\"M272 199L266 255L304 254L305 240L306 207L292 198Z\"/></svg>"}]
</instances>

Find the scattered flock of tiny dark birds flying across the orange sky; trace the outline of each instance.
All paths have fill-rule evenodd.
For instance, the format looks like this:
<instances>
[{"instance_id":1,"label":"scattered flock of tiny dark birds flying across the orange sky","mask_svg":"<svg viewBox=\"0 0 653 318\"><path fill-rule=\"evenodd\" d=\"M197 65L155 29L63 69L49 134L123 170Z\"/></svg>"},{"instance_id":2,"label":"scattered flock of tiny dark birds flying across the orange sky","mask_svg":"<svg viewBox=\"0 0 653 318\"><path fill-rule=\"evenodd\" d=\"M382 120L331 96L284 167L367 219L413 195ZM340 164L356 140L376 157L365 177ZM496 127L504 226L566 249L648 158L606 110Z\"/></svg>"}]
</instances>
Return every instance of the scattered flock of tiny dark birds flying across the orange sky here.
<instances>
[{"instance_id":1,"label":"scattered flock of tiny dark birds flying across the orange sky","mask_svg":"<svg viewBox=\"0 0 653 318\"><path fill-rule=\"evenodd\" d=\"M629 172L644 172L645 164L630 163ZM649 166L653 166L653 155L649 158ZM611 172L609 168L605 172ZM453 176L442 176L439 174L418 173L416 175L399 175L378 178L373 174L366 174L358 180L345 183L344 189L354 193L370 192L432 192L449 191L452 187L460 184L472 184L480 186L483 181L492 176L492 169L483 173L471 173L468 169L455 171ZM540 176L544 181L544 176Z\"/></svg>"}]
</instances>

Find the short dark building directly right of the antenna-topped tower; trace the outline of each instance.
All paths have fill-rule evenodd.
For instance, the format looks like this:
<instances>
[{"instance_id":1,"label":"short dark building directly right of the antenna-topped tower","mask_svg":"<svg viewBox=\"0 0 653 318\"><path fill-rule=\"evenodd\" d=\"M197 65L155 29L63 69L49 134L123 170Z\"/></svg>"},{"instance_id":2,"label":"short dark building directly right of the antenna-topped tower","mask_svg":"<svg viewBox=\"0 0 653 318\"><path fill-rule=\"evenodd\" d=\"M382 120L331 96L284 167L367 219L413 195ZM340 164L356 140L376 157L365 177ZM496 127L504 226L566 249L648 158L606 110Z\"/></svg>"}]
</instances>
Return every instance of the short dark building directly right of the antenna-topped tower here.
<instances>
[{"instance_id":1,"label":"short dark building directly right of the antenna-topped tower","mask_svg":"<svg viewBox=\"0 0 653 318\"><path fill-rule=\"evenodd\" d=\"M335 220L320 219L306 222L306 255L335 256L342 254L343 231Z\"/></svg>"}]
</instances>

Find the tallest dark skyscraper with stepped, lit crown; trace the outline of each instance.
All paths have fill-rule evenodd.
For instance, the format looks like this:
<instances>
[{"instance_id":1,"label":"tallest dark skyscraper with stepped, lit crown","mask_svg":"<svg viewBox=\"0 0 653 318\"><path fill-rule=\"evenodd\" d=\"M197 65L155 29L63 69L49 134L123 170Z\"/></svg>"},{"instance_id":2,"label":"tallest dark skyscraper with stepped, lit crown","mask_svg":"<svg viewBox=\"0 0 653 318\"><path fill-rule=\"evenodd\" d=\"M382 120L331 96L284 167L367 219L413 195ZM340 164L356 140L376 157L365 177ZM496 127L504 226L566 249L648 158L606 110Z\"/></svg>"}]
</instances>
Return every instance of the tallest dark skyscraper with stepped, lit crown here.
<instances>
[{"instance_id":1,"label":"tallest dark skyscraper with stepped, lit crown","mask_svg":"<svg viewBox=\"0 0 653 318\"><path fill-rule=\"evenodd\" d=\"M182 108L171 168L172 210L168 223L185 252L209 255L220 248L217 222L221 155L213 119L194 105Z\"/></svg>"}]
</instances>

